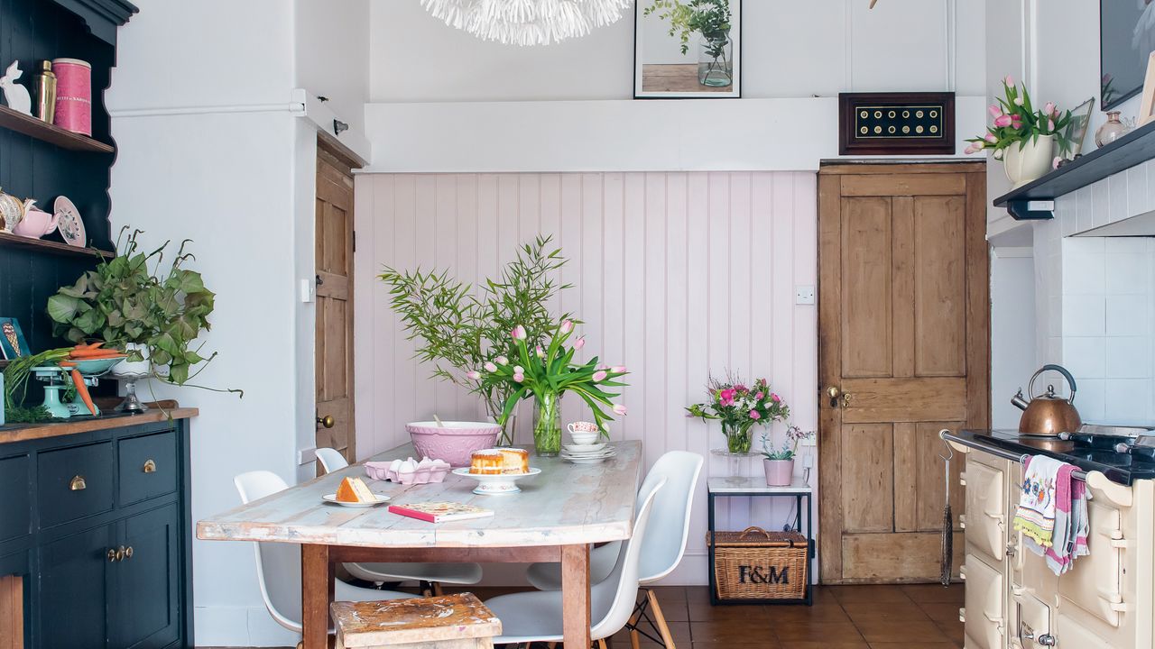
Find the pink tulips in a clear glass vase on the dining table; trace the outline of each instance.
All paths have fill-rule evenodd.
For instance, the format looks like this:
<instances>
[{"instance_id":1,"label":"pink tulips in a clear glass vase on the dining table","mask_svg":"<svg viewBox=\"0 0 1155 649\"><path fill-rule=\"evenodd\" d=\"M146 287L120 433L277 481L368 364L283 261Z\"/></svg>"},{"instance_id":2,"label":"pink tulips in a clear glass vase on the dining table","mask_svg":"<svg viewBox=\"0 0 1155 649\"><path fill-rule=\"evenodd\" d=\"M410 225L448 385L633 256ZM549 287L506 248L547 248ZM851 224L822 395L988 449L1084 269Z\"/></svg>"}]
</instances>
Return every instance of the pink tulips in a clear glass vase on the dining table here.
<instances>
[{"instance_id":1,"label":"pink tulips in a clear glass vase on the dining table","mask_svg":"<svg viewBox=\"0 0 1155 649\"><path fill-rule=\"evenodd\" d=\"M499 356L485 363L483 370L468 374L469 379L478 381L482 386L506 386L512 389L498 418L499 424L504 425L522 398L534 396L537 400L538 417L534 423L534 446L538 455L551 456L561 450L558 401L567 391L576 394L589 405L602 435L606 435L604 423L613 420L605 410L619 416L626 413L625 405L612 402L613 397L620 396L620 393L604 389L626 386L627 383L618 380L627 373L626 368L601 365L597 357L584 364L575 363L574 353L586 345L586 338L579 337L571 343L569 337L573 334L574 323L566 320L553 331L547 348L535 345L530 351L526 342L528 338L526 328L519 324L509 333L516 349L516 357L513 360Z\"/></svg>"}]
</instances>

